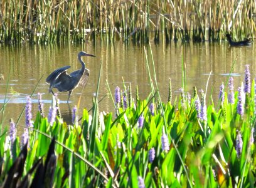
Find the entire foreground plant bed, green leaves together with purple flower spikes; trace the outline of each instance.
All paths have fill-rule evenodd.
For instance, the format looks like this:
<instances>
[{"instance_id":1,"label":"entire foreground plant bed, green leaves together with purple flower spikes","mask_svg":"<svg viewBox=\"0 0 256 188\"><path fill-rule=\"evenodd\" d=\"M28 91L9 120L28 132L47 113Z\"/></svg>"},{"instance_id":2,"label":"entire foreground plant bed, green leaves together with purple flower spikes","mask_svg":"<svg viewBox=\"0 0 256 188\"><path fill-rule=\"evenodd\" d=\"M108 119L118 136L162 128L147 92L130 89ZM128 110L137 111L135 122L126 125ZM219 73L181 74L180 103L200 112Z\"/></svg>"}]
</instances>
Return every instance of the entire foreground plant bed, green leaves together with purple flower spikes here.
<instances>
[{"instance_id":1,"label":"entire foreground plant bed, green leaves together with purple flower spikes","mask_svg":"<svg viewBox=\"0 0 256 188\"><path fill-rule=\"evenodd\" d=\"M27 97L23 135L17 136L13 120L9 131L0 130L0 185L255 187L256 85L250 66L238 89L228 76L218 102L207 103L206 91L186 91L184 66L181 95L173 100L170 80L163 102L147 56L146 65L146 100L139 88L133 97L131 85L117 86L110 90L115 112L99 112L98 83L92 113L83 109L79 119L74 107L71 125L63 122L56 95L48 116L38 95L34 120Z\"/></svg>"}]
</instances>

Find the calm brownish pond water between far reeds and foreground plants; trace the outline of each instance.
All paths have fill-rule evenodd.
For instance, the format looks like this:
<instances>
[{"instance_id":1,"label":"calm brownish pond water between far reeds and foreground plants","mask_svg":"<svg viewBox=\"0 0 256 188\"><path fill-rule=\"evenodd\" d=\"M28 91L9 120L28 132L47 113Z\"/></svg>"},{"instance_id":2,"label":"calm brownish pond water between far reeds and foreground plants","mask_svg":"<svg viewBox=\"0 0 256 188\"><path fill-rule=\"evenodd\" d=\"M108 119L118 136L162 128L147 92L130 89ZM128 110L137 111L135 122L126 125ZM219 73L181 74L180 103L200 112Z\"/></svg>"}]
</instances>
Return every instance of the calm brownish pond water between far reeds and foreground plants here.
<instances>
[{"instance_id":1,"label":"calm brownish pond water between far reeds and foreground plants","mask_svg":"<svg viewBox=\"0 0 256 188\"><path fill-rule=\"evenodd\" d=\"M246 64L250 65L252 78L255 77L255 49L253 45L230 48L227 42L198 44L161 43L157 45L152 42L151 49L156 68L156 78L163 102L166 102L168 99L169 78L171 78L174 95L179 95L182 78L182 48L184 49L184 62L186 63L187 89L191 94L193 86L196 86L198 90L205 90L210 76L207 95L213 89L213 98L215 103L217 103L219 86L222 81L227 81L228 73L236 58L237 62L232 71L235 80L235 90L237 90L244 79L243 74ZM149 45L145 49L151 66L151 76L154 78ZM0 73L4 75L5 80L0 83L0 107L3 107L4 104L6 83L9 76L9 87L6 95L6 100L9 101L4 110L4 116L0 113L0 121L3 120L3 125L7 126L9 124L9 118L13 118L14 122L17 122L26 103L26 96L33 93L41 76L43 77L32 96L33 117L35 118L35 113L38 110L38 92L43 93L45 115L47 115L52 97L48 93L48 85L46 85L45 79L51 71L62 66L70 65L71 68L68 72L80 69L80 63L77 60L77 53L79 51L86 51L96 55L96 58L83 57L87 68L90 70L90 78L84 90L78 87L73 91L70 105L66 103L68 93L59 93L61 114L68 123L71 122L71 110L75 105L78 105L80 97L79 115L82 115L82 108L90 109L92 107L92 98L97 89L100 63L102 63L102 75L100 78L99 99L109 93L106 80L110 85L112 95L114 95L115 86L120 86L122 90L124 89L122 79L127 86L131 83L134 98L136 97L137 85L139 86L140 98L144 99L149 95L151 87L144 46L124 44L122 41L112 44L99 41L97 43L55 44L48 46L29 46L29 44L18 47L1 46ZM114 112L112 99L110 97L104 98L100 102L99 108L100 111ZM19 125L24 125L24 115L21 116Z\"/></svg>"}]
</instances>

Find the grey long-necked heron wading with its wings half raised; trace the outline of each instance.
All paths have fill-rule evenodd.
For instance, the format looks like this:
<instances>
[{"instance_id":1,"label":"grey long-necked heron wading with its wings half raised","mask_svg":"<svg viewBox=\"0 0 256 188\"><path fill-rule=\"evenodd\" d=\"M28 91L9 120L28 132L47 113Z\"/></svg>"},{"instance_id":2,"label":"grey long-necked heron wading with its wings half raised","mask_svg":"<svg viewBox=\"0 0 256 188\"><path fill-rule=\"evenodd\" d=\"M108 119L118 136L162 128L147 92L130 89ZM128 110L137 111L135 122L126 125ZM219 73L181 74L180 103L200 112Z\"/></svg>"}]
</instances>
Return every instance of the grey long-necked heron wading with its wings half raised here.
<instances>
[{"instance_id":1,"label":"grey long-necked heron wading with its wings half raised","mask_svg":"<svg viewBox=\"0 0 256 188\"><path fill-rule=\"evenodd\" d=\"M78 85L85 86L88 81L88 76L90 75L90 70L85 68L85 63L82 60L82 56L91 56L95 57L95 55L90 55L84 51L80 51L78 53L78 60L80 61L82 68L80 70L73 71L68 75L67 70L70 66L63 66L53 71L47 78L46 83L50 84L49 92L53 93L53 88L56 88L60 92L68 92L68 101L70 100L70 95L72 91L77 88Z\"/></svg>"}]
</instances>

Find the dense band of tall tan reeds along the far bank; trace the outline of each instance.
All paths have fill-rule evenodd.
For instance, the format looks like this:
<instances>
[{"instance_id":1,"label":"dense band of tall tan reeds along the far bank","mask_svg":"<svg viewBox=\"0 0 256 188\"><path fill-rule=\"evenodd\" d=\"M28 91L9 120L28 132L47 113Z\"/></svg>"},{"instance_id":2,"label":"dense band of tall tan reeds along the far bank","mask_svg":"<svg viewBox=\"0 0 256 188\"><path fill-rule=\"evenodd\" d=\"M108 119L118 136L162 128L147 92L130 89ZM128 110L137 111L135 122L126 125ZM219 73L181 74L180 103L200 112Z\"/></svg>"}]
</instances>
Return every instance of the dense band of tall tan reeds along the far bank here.
<instances>
[{"instance_id":1,"label":"dense band of tall tan reeds along the far bank","mask_svg":"<svg viewBox=\"0 0 256 188\"><path fill-rule=\"evenodd\" d=\"M215 41L255 30L253 1L6 1L0 3L3 42L50 43L85 39Z\"/></svg>"}]
</instances>

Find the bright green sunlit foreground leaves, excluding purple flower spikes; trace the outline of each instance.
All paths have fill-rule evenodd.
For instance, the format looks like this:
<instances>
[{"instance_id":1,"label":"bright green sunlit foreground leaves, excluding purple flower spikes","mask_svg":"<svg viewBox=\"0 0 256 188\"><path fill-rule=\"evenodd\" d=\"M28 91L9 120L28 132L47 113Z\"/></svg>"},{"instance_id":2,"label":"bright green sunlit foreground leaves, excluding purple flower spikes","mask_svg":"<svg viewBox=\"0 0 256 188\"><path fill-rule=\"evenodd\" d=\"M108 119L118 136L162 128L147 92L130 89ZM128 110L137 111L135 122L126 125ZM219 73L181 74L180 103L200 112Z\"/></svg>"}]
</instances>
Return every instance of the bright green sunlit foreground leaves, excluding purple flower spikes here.
<instances>
[{"instance_id":1,"label":"bright green sunlit foreground leaves, excluding purple flower spikes","mask_svg":"<svg viewBox=\"0 0 256 188\"><path fill-rule=\"evenodd\" d=\"M29 130L23 177L38 160L45 160L51 142L49 137L55 137L55 187L61 184L72 187L92 184L99 187L132 186L138 184L138 176L144 179L146 187L181 187L189 184L195 187L253 186L255 148L250 139L255 124L254 90L247 97L243 117L237 114L237 98L234 104L230 104L226 95L220 109L208 106L206 122L196 117L195 98L190 103L186 101L185 105L181 105L181 100L173 105L163 103L164 114L158 104L154 115L148 108L151 98L139 100L137 103L132 102L126 110L117 109L120 114L117 117L113 117L112 113L97 113L98 125L95 125L95 118L90 117L86 109L83 110L79 125L67 125L56 120L50 126L47 118L41 117L38 112L34 128ZM142 112L144 123L139 128L137 121ZM169 139L168 152L163 151L161 143L163 116L167 123L167 135L174 140L171 143ZM92 135L93 126L97 129ZM238 130L243 140L240 156L236 152ZM16 138L12 147L6 131L0 137L1 184L19 155L20 145L20 138ZM156 154L150 163L149 150L152 147ZM188 176L184 173L178 153ZM105 176L95 171L87 161ZM32 173L30 177L35 178L35 174Z\"/></svg>"}]
</instances>

